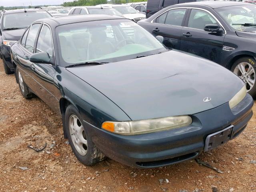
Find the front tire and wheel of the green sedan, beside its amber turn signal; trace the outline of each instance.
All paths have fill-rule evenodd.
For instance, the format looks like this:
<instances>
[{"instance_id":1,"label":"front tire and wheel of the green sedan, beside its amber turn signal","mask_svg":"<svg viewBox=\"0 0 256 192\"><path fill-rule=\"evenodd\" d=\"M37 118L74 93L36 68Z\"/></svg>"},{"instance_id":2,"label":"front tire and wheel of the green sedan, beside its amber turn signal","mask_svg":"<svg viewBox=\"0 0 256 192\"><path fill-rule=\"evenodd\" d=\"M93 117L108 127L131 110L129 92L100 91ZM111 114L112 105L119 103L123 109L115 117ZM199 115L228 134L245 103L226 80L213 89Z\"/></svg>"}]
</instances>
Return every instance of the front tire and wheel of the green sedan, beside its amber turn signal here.
<instances>
[{"instance_id":1,"label":"front tire and wheel of the green sedan, beside its amber turn signal","mask_svg":"<svg viewBox=\"0 0 256 192\"><path fill-rule=\"evenodd\" d=\"M104 160L104 154L98 150L84 128L81 116L73 105L65 113L65 129L70 146L78 160L85 165L92 165Z\"/></svg>"}]
</instances>

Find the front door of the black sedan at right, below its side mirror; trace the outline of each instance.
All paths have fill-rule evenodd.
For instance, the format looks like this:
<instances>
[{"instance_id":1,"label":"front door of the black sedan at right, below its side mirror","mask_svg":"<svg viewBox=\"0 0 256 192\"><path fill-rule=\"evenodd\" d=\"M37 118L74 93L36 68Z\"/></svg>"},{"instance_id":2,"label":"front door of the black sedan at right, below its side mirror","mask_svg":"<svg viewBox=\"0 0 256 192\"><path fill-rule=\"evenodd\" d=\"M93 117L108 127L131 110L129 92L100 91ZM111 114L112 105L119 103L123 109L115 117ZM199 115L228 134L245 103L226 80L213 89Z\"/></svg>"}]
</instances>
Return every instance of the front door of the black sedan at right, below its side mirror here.
<instances>
[{"instance_id":1,"label":"front door of the black sedan at right, below its side mirror","mask_svg":"<svg viewBox=\"0 0 256 192\"><path fill-rule=\"evenodd\" d=\"M180 49L220 63L225 30L208 10L193 8L181 32ZM204 31L206 24L218 24L222 33Z\"/></svg>"}]
</instances>

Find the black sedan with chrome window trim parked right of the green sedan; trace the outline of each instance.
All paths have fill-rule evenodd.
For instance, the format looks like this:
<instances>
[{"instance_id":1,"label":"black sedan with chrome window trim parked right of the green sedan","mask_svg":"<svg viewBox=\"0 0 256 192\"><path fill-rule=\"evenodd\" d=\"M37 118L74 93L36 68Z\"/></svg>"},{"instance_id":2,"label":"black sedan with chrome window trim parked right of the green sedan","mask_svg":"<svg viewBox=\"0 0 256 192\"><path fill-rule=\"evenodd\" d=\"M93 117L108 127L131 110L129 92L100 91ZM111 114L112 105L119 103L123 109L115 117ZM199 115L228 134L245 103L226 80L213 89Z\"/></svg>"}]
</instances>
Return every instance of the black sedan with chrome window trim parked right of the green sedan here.
<instances>
[{"instance_id":1,"label":"black sedan with chrome window trim parked right of the green sedan","mask_svg":"<svg viewBox=\"0 0 256 192\"><path fill-rule=\"evenodd\" d=\"M238 75L256 96L256 6L242 2L177 4L138 22L163 43L212 60ZM225 83L222 82L222 83Z\"/></svg>"}]
</instances>

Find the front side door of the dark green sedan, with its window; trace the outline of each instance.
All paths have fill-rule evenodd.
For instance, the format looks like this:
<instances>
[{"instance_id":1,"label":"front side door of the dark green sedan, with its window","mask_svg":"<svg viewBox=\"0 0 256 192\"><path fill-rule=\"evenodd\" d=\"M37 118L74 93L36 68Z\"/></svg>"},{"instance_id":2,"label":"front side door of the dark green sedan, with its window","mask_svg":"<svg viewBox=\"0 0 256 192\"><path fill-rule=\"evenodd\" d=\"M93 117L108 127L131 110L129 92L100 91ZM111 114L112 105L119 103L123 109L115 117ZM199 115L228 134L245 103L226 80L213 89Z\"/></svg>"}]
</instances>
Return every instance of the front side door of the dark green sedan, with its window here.
<instances>
[{"instance_id":1,"label":"front side door of the dark green sedan, with its window","mask_svg":"<svg viewBox=\"0 0 256 192\"><path fill-rule=\"evenodd\" d=\"M47 52L51 59L55 61L52 32L50 27L46 24L42 26L38 35L35 52ZM52 109L57 111L58 100L54 96L54 75L56 72L55 64L32 63L31 66L32 78L34 78L36 81L36 94Z\"/></svg>"}]
</instances>

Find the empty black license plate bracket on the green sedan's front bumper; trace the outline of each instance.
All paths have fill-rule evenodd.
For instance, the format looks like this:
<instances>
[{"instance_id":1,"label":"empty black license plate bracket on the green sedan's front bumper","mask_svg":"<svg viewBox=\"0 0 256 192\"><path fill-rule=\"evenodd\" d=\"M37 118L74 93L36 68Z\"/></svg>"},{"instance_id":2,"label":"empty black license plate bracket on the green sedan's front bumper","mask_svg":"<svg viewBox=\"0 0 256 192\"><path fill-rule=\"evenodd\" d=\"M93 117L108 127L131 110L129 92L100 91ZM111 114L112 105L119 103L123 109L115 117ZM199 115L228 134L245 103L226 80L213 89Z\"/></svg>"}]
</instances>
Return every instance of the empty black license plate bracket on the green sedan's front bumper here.
<instances>
[{"instance_id":1,"label":"empty black license plate bracket on the green sedan's front bumper","mask_svg":"<svg viewBox=\"0 0 256 192\"><path fill-rule=\"evenodd\" d=\"M210 134L206 137L204 151L212 150L231 139L233 132L233 125L228 126L227 128Z\"/></svg>"}]
</instances>

